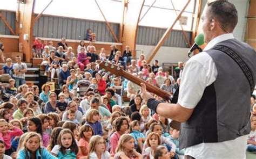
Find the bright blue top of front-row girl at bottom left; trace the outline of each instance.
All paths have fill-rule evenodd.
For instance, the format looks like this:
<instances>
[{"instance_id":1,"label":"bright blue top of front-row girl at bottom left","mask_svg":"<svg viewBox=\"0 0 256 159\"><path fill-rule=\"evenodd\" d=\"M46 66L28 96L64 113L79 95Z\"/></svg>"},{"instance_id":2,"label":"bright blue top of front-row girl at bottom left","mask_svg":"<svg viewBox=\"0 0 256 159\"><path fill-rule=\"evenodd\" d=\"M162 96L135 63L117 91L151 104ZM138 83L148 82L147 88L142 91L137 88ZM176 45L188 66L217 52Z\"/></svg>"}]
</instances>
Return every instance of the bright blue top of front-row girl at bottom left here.
<instances>
[{"instance_id":1,"label":"bright blue top of front-row girl at bottom left","mask_svg":"<svg viewBox=\"0 0 256 159\"><path fill-rule=\"evenodd\" d=\"M26 151L24 149L18 151L17 159L24 159L26 158ZM28 151L28 158L30 158L30 152ZM57 159L57 157L53 156L46 150L45 148L41 148L41 153L39 150L36 150L36 158L47 158L47 159Z\"/></svg>"}]
</instances>

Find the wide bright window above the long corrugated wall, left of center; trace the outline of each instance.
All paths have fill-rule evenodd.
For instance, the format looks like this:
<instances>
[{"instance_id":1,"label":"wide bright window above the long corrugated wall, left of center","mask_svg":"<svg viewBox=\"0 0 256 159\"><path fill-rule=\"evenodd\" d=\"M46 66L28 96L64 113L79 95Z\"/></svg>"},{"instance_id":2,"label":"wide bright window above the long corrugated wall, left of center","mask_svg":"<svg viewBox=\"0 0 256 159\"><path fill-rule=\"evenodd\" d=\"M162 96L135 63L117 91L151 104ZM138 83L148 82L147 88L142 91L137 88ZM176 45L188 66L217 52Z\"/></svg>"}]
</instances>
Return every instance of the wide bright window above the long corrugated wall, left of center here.
<instances>
[{"instance_id":1,"label":"wide bright window above the long corrugated wall, left of center","mask_svg":"<svg viewBox=\"0 0 256 159\"><path fill-rule=\"evenodd\" d=\"M35 13L41 13L50 1L36 1ZM112 23L122 21L122 2L113 0L98 0L97 2L107 21ZM54 0L44 11L44 14L105 21L95 0Z\"/></svg>"}]
</instances>

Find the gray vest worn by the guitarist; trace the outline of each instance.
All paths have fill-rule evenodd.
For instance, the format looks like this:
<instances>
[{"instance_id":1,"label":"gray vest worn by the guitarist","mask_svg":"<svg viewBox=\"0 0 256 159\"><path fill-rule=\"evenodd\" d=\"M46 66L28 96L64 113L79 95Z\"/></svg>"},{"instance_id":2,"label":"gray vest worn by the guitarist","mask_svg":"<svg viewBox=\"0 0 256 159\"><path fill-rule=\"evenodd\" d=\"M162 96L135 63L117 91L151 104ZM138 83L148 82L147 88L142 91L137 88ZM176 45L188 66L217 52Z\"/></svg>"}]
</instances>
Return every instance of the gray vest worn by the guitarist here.
<instances>
[{"instance_id":1,"label":"gray vest worn by the guitarist","mask_svg":"<svg viewBox=\"0 0 256 159\"><path fill-rule=\"evenodd\" d=\"M234 50L256 75L256 53L249 45L230 39L219 42ZM206 51L217 67L216 81L207 86L191 117L181 124L180 149L199 143L223 142L249 134L251 89L236 62L225 53Z\"/></svg>"}]
</instances>

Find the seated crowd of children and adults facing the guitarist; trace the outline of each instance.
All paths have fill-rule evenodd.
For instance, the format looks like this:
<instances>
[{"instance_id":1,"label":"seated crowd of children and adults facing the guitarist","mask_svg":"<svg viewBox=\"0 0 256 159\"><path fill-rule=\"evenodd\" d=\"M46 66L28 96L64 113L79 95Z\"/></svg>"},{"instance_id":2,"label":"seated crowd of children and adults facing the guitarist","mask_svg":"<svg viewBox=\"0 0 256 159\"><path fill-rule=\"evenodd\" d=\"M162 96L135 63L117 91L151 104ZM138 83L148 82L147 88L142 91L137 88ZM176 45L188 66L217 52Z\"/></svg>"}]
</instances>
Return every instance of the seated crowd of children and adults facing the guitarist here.
<instances>
[{"instance_id":1,"label":"seated crowd of children and adults facing the guitarist","mask_svg":"<svg viewBox=\"0 0 256 159\"><path fill-rule=\"evenodd\" d=\"M89 31L88 36L95 41L96 34ZM145 105L138 85L104 73L95 62L109 60L170 93L180 84L182 63L173 78L158 66L157 60L152 66L147 65L144 54L136 63L129 46L123 55L111 46L107 56L104 48L98 55L92 42L86 47L81 41L76 58L65 38L58 43L57 50L52 42L42 44L40 39L34 45L35 56L45 59L43 63L48 67L46 71L51 71L51 79L57 73L61 92L51 92L48 84L42 86L42 92L36 85L17 87L15 77L8 86L0 86L0 158L184 157L184 150L179 149L179 131L170 127L171 120ZM11 70L12 60L6 59L4 73ZM79 81L88 83L82 94L77 88ZM129 106L124 105L124 94L130 98ZM154 97L165 102L157 95ZM256 114L254 100L252 112ZM248 151L256 151L255 132L253 129L250 134Z\"/></svg>"}]
</instances>

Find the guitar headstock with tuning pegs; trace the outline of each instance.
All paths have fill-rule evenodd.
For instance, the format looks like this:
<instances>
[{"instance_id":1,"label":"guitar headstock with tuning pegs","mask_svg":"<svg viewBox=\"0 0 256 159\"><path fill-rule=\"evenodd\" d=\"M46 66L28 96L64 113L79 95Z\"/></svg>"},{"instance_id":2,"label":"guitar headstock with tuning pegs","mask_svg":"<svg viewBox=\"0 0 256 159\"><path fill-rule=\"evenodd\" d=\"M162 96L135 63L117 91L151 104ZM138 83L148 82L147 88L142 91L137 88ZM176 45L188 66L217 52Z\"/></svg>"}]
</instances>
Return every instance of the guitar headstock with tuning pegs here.
<instances>
[{"instance_id":1,"label":"guitar headstock with tuning pegs","mask_svg":"<svg viewBox=\"0 0 256 159\"><path fill-rule=\"evenodd\" d=\"M96 62L99 64L99 69L104 71L108 75L112 75L113 77L122 75L122 68L117 66L116 64L101 60L97 60Z\"/></svg>"}]
</instances>

